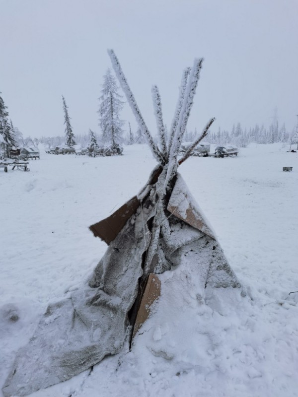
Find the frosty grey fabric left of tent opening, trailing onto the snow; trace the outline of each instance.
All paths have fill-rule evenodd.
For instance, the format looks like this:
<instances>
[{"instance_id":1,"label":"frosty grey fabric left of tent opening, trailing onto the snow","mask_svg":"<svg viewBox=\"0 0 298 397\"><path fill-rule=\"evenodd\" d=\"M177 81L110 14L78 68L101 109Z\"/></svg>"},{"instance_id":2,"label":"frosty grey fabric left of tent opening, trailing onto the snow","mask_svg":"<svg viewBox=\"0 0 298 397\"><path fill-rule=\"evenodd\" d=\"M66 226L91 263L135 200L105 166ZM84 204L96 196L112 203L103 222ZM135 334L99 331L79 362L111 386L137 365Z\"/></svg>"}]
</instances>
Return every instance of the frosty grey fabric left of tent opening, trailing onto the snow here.
<instances>
[{"instance_id":1,"label":"frosty grey fabric left of tent opening, trailing onto the snow","mask_svg":"<svg viewBox=\"0 0 298 397\"><path fill-rule=\"evenodd\" d=\"M141 216L139 211L127 222L88 284L49 305L34 336L17 353L4 396L25 396L63 382L119 351L142 275L146 247Z\"/></svg>"}]
</instances>

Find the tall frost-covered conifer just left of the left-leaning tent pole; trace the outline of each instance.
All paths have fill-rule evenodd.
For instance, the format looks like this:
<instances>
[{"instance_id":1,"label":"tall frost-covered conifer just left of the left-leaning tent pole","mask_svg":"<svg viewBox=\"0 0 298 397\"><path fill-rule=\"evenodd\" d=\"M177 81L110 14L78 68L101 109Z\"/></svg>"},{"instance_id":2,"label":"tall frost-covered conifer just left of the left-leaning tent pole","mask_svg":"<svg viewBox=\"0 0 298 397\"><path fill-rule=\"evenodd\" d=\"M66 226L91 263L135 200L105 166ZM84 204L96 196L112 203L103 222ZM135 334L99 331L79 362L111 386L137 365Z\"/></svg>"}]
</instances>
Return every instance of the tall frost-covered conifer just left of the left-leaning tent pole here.
<instances>
[{"instance_id":1,"label":"tall frost-covered conifer just left of the left-leaning tent pole","mask_svg":"<svg viewBox=\"0 0 298 397\"><path fill-rule=\"evenodd\" d=\"M116 78L108 68L103 76L101 96L99 98L99 126L102 130L102 141L104 143L119 144L122 141L124 121L120 120L120 112L124 102L118 93L119 87Z\"/></svg>"}]
</instances>

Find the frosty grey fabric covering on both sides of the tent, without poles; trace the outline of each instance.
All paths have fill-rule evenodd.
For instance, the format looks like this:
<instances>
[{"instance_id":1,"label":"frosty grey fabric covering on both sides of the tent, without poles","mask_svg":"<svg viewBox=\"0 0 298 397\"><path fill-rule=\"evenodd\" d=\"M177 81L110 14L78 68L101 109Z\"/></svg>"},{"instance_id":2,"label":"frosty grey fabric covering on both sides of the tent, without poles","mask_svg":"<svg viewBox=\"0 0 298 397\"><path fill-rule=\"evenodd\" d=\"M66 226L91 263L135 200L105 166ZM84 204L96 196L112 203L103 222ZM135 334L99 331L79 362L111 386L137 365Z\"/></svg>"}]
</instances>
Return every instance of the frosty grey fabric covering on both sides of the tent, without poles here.
<instances>
[{"instance_id":1,"label":"frosty grey fabric covering on both sides of the tent, without poles","mask_svg":"<svg viewBox=\"0 0 298 397\"><path fill-rule=\"evenodd\" d=\"M88 283L71 298L49 305L33 337L17 353L3 387L4 396L25 396L65 381L104 356L119 352L132 332L128 314L138 295L139 279L145 277L154 220L160 208L156 184L148 185L145 193ZM196 292L202 300L208 284L240 286L179 174L167 209L159 216L154 268L149 264L149 271L173 270L181 257L187 256L189 266L199 269L200 288Z\"/></svg>"}]
</instances>

